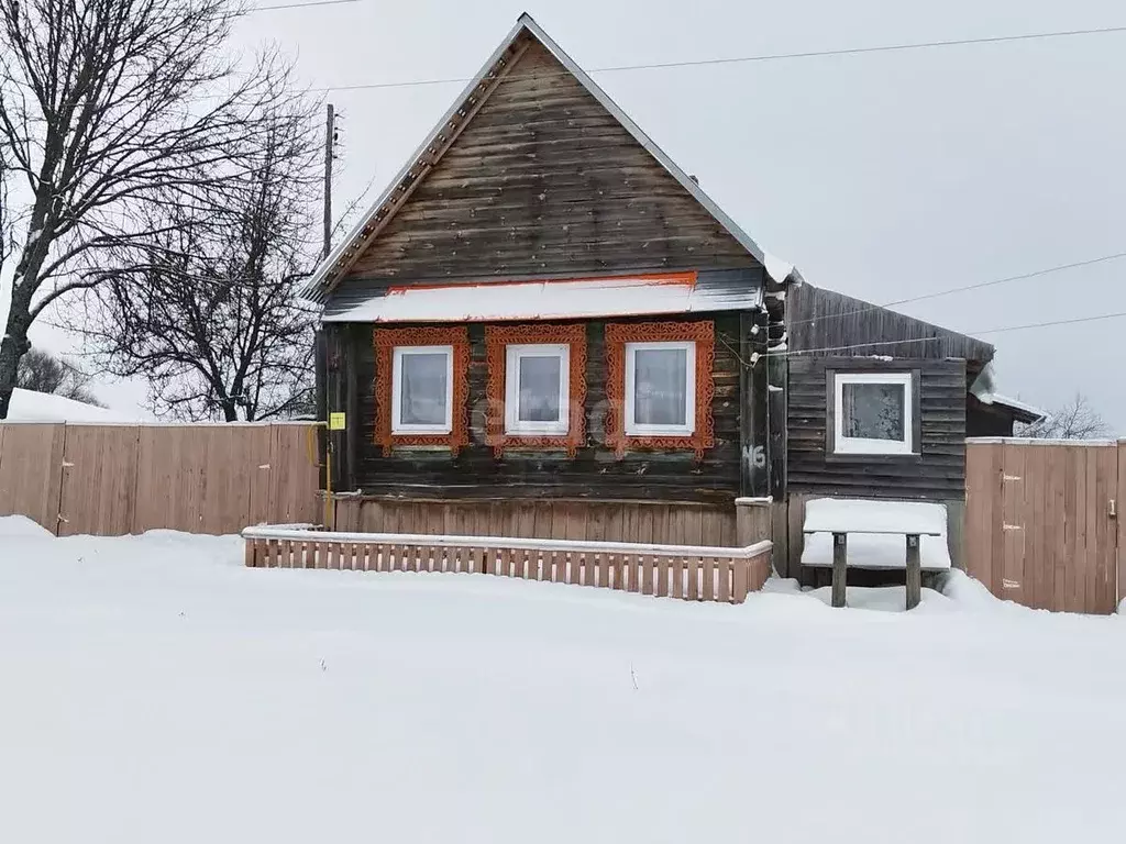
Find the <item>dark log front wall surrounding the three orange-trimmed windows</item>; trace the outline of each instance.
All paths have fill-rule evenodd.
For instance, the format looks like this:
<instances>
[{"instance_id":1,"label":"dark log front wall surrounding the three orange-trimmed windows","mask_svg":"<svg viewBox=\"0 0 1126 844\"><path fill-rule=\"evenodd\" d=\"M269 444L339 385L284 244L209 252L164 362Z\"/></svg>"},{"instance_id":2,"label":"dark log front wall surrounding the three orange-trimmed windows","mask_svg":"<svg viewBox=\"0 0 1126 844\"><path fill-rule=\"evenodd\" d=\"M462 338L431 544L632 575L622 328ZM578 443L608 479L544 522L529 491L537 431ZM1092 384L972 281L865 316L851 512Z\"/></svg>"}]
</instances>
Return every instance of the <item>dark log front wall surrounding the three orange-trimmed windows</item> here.
<instances>
[{"instance_id":1,"label":"dark log front wall surrounding the three orange-trimmed windows","mask_svg":"<svg viewBox=\"0 0 1126 844\"><path fill-rule=\"evenodd\" d=\"M411 499L591 499L732 503L740 493L740 316L738 313L661 317L715 321L715 447L703 463L691 451L631 452L616 459L601 439L606 397L604 324L588 323L587 447L574 459L563 451L507 451L493 456L483 441L485 361L483 324L470 325L471 445L448 450L399 448L384 457L373 443L375 356L370 325L324 326L328 410L348 411L349 429L336 434L338 488ZM643 322L642 320L635 320Z\"/></svg>"}]
</instances>

